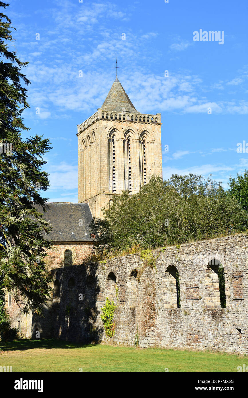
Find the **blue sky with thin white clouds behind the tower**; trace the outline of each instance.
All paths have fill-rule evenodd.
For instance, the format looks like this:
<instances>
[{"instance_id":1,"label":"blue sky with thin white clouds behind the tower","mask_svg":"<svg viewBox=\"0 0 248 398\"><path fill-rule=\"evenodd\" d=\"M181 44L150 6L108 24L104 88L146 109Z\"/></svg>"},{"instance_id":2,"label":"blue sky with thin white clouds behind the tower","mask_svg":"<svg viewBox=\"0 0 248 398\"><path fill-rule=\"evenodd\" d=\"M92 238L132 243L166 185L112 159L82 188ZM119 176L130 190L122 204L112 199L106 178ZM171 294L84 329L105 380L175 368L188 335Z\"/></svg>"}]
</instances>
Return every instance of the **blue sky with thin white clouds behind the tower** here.
<instances>
[{"instance_id":1,"label":"blue sky with thin white clouds behind the tower","mask_svg":"<svg viewBox=\"0 0 248 398\"><path fill-rule=\"evenodd\" d=\"M212 173L228 187L230 174L248 168L248 154L236 151L248 143L247 1L8 2L14 45L29 61L25 125L53 146L43 195L50 201L78 201L76 126L102 106L115 80L115 48L136 109L161 113L164 179ZM200 29L224 31L224 43L193 41Z\"/></svg>"}]
</instances>

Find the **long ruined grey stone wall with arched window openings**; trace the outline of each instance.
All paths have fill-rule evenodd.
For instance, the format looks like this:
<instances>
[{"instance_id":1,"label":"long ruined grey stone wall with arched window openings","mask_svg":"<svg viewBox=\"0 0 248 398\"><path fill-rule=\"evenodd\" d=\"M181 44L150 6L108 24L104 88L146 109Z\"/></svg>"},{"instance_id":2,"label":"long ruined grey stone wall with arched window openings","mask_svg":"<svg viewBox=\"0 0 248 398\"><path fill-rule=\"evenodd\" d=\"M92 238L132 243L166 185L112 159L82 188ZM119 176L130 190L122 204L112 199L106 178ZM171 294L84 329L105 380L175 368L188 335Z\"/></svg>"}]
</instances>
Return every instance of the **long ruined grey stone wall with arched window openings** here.
<instances>
[{"instance_id":1,"label":"long ruined grey stone wall with arched window openings","mask_svg":"<svg viewBox=\"0 0 248 398\"><path fill-rule=\"evenodd\" d=\"M140 347L247 354L248 236L158 249L153 256L155 267L144 267L141 256L132 254L106 263L54 269L53 299L45 320L33 319L33 330L40 330L41 337L50 333L55 338L118 345L134 345L138 330ZM222 266L226 308L221 308L219 292ZM179 274L180 308L174 267ZM116 284L108 278L111 272ZM106 337L100 318L106 297L118 305L113 338Z\"/></svg>"}]
</instances>

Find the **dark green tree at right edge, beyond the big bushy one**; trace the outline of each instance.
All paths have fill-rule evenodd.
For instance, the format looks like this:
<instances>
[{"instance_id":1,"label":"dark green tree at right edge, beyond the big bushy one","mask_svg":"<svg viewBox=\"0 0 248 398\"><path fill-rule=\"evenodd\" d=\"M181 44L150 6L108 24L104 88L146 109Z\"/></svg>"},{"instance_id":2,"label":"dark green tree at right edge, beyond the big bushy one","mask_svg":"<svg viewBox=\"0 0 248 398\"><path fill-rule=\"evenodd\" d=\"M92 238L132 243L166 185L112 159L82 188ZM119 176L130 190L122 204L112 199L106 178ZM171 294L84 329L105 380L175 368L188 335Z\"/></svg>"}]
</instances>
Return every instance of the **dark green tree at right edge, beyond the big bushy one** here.
<instances>
[{"instance_id":1,"label":"dark green tree at right edge, beyond the big bushy one","mask_svg":"<svg viewBox=\"0 0 248 398\"><path fill-rule=\"evenodd\" d=\"M228 185L230 186L229 195L235 197L242 209L248 213L248 170L244 170L240 176L237 174L237 179L230 177ZM245 225L247 225L247 219Z\"/></svg>"}]
</instances>

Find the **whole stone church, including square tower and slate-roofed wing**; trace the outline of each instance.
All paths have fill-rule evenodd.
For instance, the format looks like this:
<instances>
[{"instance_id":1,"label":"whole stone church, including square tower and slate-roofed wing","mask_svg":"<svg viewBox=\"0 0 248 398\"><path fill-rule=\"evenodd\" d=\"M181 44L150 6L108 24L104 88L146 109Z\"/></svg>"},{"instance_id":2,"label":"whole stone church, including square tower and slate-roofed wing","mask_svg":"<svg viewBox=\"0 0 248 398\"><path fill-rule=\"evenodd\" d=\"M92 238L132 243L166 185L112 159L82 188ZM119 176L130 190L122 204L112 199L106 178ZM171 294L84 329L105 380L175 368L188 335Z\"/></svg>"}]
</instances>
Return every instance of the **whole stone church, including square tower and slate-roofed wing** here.
<instances>
[{"instance_id":1,"label":"whole stone church, including square tower and slate-roofed wing","mask_svg":"<svg viewBox=\"0 0 248 398\"><path fill-rule=\"evenodd\" d=\"M89 224L102 217L115 195L137 193L154 174L162 176L161 117L140 113L116 79L101 108L78 125L78 202L49 202L44 213L53 226L45 238L49 271L80 265L94 245ZM6 309L12 326L31 336L33 317L23 316L11 292Z\"/></svg>"}]
</instances>

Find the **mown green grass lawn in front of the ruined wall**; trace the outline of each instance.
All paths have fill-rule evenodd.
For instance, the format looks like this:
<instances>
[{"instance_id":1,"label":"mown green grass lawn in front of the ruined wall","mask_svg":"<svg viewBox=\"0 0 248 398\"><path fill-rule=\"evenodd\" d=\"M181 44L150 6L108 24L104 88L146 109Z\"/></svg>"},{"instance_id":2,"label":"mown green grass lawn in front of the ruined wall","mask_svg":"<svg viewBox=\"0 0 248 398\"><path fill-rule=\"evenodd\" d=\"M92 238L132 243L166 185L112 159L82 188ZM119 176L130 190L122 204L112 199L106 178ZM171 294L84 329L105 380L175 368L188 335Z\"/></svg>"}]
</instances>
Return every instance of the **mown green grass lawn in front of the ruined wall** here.
<instances>
[{"instance_id":1,"label":"mown green grass lawn in front of the ruined wall","mask_svg":"<svg viewBox=\"0 0 248 398\"><path fill-rule=\"evenodd\" d=\"M56 340L0 342L13 372L236 372L245 358L225 353L82 345Z\"/></svg>"}]
</instances>

